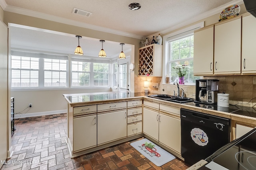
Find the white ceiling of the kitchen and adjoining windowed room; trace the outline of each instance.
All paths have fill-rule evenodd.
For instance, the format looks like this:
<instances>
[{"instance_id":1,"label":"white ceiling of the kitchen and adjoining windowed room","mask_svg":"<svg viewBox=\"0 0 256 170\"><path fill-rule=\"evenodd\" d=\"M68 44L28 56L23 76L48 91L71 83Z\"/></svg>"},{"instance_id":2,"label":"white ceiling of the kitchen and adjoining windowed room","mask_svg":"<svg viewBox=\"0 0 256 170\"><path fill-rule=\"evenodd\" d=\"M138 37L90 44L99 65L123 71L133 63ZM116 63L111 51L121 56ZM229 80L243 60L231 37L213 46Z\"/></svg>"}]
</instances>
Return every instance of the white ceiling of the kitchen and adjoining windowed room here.
<instances>
[{"instance_id":1,"label":"white ceiling of the kitchen and adjoining windowed room","mask_svg":"<svg viewBox=\"0 0 256 170\"><path fill-rule=\"evenodd\" d=\"M134 11L128 9L128 5L132 2L138 2L142 7ZM156 33L167 33L218 14L229 5L242 2L242 0L0 0L0 5L5 11L141 39ZM92 15L86 18L72 14L74 8L92 12ZM54 47L52 50L74 51L78 43L74 35L42 32L42 30L20 28L17 25L10 30L13 35L11 39L13 47L31 46L41 49ZM62 41L63 39L66 41ZM99 39L83 37L80 40L82 48L83 43L90 42L84 45L84 53L98 55L101 48ZM106 41L104 49L107 55L110 57L118 55L121 49L119 43L122 42ZM36 47L36 44L40 46ZM124 51L129 50L130 47L124 45ZM107 51L107 49L116 49L116 51Z\"/></svg>"}]
</instances>

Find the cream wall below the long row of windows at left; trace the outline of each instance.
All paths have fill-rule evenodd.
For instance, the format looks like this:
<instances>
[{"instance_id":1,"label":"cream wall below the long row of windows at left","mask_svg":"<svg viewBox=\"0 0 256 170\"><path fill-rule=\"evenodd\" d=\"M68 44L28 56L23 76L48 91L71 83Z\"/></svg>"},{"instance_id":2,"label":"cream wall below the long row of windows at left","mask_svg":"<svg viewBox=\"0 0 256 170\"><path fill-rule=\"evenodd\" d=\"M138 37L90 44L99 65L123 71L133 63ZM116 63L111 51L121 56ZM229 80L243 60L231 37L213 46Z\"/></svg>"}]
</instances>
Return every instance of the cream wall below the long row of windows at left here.
<instances>
[{"instance_id":1,"label":"cream wall below the long row of windows at left","mask_svg":"<svg viewBox=\"0 0 256 170\"><path fill-rule=\"evenodd\" d=\"M65 113L67 102L63 94L78 94L92 92L109 92L110 88L103 89L80 89L80 90L28 90L28 91L11 91L11 96L14 97L14 111L18 113L32 104L28 110L22 111L25 115L16 114L15 118L31 117L36 115L47 115L54 113Z\"/></svg>"}]
</instances>

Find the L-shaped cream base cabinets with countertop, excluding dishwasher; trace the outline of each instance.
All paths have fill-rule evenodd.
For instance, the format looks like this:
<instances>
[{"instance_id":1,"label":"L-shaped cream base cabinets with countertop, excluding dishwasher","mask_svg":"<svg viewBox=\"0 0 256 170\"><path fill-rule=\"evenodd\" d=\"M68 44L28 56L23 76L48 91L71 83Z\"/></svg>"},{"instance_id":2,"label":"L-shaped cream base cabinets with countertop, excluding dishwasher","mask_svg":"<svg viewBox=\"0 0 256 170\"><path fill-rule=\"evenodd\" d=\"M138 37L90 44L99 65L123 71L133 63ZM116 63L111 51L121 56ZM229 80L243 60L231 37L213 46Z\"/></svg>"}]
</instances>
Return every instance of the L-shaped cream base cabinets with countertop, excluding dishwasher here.
<instances>
[{"instance_id":1,"label":"L-shaped cream base cabinets with countertop, excluding dishwasher","mask_svg":"<svg viewBox=\"0 0 256 170\"><path fill-rule=\"evenodd\" d=\"M183 159L180 154L180 108L231 119L231 141L236 139L241 127L256 127L256 109L253 107L230 106L227 110L217 106L198 106L194 102L168 102L146 95L130 92L64 94L68 102L67 143L71 157L144 136ZM161 115L161 118L165 116L163 120L171 123L167 122L162 129L159 125L155 137L148 130L150 119L146 118L143 111L154 112ZM173 128L170 125L177 126L174 134L170 134L169 128ZM165 134L164 137L161 134ZM174 135L176 141L170 143Z\"/></svg>"}]
</instances>

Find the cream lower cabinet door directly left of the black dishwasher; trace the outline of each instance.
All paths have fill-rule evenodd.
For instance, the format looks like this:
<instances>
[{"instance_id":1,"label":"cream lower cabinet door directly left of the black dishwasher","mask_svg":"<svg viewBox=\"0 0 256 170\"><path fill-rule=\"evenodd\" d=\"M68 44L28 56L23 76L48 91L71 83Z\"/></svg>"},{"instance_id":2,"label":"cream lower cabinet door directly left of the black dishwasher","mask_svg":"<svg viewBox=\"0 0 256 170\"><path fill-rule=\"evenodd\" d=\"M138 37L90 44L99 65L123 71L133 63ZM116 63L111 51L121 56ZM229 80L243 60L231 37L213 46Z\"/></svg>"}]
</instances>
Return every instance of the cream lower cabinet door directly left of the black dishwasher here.
<instances>
[{"instance_id":1,"label":"cream lower cabinet door directly left of the black dishwasher","mask_svg":"<svg viewBox=\"0 0 256 170\"><path fill-rule=\"evenodd\" d=\"M159 113L159 142L176 150L181 150L180 118Z\"/></svg>"}]
</instances>

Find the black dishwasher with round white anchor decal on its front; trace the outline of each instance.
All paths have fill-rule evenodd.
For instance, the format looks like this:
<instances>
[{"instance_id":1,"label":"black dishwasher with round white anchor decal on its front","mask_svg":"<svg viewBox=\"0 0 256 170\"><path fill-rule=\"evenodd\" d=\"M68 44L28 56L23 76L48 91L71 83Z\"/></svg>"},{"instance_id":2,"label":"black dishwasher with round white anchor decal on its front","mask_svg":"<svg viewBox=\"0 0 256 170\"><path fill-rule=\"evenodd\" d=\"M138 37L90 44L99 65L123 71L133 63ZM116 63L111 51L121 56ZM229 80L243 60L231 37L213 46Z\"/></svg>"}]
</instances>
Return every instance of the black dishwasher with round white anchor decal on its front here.
<instances>
[{"instance_id":1,"label":"black dishwasher with round white anchor decal on its front","mask_svg":"<svg viewBox=\"0 0 256 170\"><path fill-rule=\"evenodd\" d=\"M230 119L180 109L181 156L190 166L230 142Z\"/></svg>"}]
</instances>

